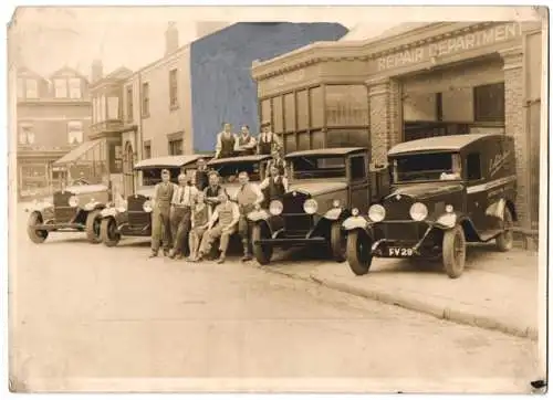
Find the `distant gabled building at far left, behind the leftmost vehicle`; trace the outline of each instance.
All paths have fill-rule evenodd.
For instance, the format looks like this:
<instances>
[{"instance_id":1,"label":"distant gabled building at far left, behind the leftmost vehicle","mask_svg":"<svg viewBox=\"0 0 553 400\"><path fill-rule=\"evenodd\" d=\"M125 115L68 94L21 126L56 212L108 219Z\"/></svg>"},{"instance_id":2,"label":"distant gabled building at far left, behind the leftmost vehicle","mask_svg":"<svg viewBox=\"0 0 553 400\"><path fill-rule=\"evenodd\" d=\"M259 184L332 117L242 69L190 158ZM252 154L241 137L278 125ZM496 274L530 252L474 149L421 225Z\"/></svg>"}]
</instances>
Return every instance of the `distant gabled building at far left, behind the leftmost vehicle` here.
<instances>
[{"instance_id":1,"label":"distant gabled building at far left, behind the leftmost vehicle","mask_svg":"<svg viewBox=\"0 0 553 400\"><path fill-rule=\"evenodd\" d=\"M88 81L63 67L50 76L18 71L18 193L48 193L62 170L55 160L79 147L91 125Z\"/></svg>"}]
</instances>

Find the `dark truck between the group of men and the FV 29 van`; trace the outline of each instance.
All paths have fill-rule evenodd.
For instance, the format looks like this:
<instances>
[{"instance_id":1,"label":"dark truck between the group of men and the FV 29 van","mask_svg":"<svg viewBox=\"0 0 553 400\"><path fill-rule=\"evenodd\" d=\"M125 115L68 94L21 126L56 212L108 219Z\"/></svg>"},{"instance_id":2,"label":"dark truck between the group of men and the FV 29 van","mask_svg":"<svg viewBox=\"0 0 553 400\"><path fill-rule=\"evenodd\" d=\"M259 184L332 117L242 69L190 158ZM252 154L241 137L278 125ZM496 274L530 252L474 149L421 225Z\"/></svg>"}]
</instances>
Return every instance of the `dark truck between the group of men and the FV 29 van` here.
<instances>
[{"instance_id":1,"label":"dark truck between the group of men and the FV 29 van","mask_svg":"<svg viewBox=\"0 0 553 400\"><path fill-rule=\"evenodd\" d=\"M387 193L387 170L371 170L369 151L342 147L295 151L285 156L290 188L268 210L251 212L253 254L271 261L274 248L321 244L345 261L342 222L355 209L367 209Z\"/></svg>"}]
</instances>

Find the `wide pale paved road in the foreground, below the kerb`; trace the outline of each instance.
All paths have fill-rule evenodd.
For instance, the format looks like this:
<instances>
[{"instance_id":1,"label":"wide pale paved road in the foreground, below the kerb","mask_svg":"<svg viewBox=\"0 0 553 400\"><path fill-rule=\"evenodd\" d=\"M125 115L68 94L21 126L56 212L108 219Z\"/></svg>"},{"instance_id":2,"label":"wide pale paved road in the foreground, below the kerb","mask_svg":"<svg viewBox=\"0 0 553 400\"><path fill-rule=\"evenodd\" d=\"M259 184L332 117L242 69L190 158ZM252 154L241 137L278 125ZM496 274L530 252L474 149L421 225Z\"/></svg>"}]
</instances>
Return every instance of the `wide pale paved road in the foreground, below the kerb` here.
<instances>
[{"instance_id":1,"label":"wide pale paved road in the foreground, below the kerb","mask_svg":"<svg viewBox=\"0 0 553 400\"><path fill-rule=\"evenodd\" d=\"M438 389L453 379L446 389L501 391L526 390L535 379L535 343L254 263L148 260L148 244L136 240L108 249L82 234L41 245L17 235L11 343L20 387L38 389L39 378L56 389L71 387L62 378L302 378L313 390L321 381L309 379L355 378L385 390ZM462 382L473 379L481 385Z\"/></svg>"}]
</instances>

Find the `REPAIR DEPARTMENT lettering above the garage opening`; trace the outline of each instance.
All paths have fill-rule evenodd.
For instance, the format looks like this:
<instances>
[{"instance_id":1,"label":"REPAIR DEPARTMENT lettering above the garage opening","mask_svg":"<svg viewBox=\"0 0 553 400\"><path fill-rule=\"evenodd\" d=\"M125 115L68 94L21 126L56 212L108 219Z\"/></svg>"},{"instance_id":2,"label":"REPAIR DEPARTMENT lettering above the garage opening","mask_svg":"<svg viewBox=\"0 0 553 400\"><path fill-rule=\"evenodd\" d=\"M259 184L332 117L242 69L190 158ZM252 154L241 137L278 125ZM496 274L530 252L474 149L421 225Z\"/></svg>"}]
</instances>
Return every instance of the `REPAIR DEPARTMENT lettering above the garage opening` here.
<instances>
[{"instance_id":1,"label":"REPAIR DEPARTMENT lettering above the garage opening","mask_svg":"<svg viewBox=\"0 0 553 400\"><path fill-rule=\"evenodd\" d=\"M467 33L457 38L446 39L430 43L425 46L405 50L377 60L377 70L386 71L407 66L410 64L428 61L431 57L439 57L483 48L490 44L505 42L522 34L518 22L493 27L483 31Z\"/></svg>"}]
</instances>

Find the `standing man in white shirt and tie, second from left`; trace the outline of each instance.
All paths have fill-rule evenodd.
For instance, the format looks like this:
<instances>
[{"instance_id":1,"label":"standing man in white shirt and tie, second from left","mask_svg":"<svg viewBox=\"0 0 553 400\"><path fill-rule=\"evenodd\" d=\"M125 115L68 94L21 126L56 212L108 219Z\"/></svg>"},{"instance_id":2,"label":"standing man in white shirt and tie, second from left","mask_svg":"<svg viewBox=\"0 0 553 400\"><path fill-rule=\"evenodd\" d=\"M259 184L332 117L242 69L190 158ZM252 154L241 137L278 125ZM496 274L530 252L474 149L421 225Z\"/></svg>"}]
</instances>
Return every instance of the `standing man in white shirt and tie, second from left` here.
<instances>
[{"instance_id":1,"label":"standing man in white shirt and tie, second from left","mask_svg":"<svg viewBox=\"0 0 553 400\"><path fill-rule=\"evenodd\" d=\"M182 248L188 246L188 233L190 232L190 219L192 201L198 189L188 185L188 177L185 173L178 176L178 188L173 194L171 231L173 250L170 257L182 259Z\"/></svg>"}]
</instances>

